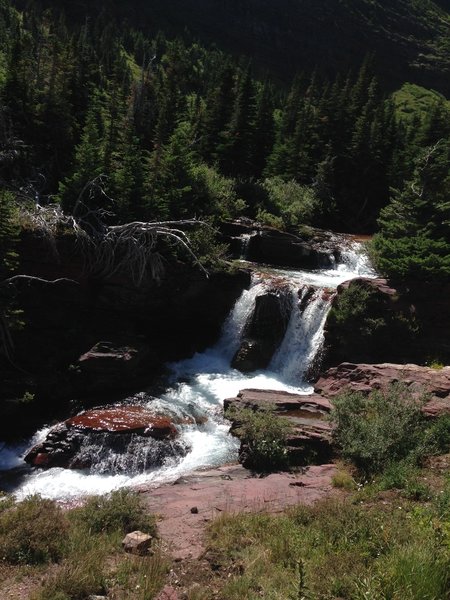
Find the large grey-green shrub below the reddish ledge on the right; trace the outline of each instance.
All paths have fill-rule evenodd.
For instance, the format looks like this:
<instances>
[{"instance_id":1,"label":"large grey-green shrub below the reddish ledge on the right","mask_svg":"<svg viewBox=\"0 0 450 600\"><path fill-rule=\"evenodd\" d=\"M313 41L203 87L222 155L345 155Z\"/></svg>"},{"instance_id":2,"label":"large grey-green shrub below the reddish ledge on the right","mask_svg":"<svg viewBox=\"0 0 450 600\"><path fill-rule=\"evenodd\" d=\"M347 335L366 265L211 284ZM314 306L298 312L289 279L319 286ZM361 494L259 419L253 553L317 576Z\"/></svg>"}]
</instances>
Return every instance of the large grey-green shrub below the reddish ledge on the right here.
<instances>
[{"instance_id":1,"label":"large grey-green shrub below the reddish ledge on the right","mask_svg":"<svg viewBox=\"0 0 450 600\"><path fill-rule=\"evenodd\" d=\"M334 440L342 456L365 476L380 473L406 457L420 459L425 399L414 398L406 387L394 384L369 396L344 392L334 399L331 419Z\"/></svg>"}]
</instances>

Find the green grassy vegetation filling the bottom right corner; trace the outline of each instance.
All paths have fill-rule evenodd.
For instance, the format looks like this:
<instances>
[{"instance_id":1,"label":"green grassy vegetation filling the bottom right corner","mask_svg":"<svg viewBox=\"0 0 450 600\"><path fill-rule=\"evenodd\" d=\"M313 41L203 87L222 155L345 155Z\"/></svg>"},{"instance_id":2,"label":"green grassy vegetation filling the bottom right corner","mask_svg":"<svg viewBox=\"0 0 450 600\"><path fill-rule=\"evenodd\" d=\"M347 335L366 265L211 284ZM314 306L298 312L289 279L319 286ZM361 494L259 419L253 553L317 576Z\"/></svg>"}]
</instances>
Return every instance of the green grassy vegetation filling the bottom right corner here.
<instances>
[{"instance_id":1,"label":"green grassy vegetation filling the bottom right corner","mask_svg":"<svg viewBox=\"0 0 450 600\"><path fill-rule=\"evenodd\" d=\"M210 528L209 551L215 572L224 573L220 597L447 598L448 536L441 532L449 507L444 515L441 497L428 505L398 498L377 505L360 502L358 492L278 517L220 517Z\"/></svg>"}]
</instances>

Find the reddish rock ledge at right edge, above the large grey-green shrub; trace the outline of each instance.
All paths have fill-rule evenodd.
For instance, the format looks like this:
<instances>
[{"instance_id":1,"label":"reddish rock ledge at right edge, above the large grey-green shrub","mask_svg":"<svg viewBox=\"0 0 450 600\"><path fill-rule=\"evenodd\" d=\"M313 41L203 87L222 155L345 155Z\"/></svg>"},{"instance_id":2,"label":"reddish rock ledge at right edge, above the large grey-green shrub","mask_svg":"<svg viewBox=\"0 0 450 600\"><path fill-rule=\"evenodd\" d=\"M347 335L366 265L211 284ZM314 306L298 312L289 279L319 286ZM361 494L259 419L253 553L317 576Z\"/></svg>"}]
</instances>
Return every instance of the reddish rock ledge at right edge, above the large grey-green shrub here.
<instances>
[{"instance_id":1,"label":"reddish rock ledge at right edge, above the large grey-green shrub","mask_svg":"<svg viewBox=\"0 0 450 600\"><path fill-rule=\"evenodd\" d=\"M407 386L413 394L428 395L424 412L429 416L450 414L450 367L432 369L418 365L343 363L328 369L314 386L321 396L332 398L343 390L369 394L393 383Z\"/></svg>"}]
</instances>

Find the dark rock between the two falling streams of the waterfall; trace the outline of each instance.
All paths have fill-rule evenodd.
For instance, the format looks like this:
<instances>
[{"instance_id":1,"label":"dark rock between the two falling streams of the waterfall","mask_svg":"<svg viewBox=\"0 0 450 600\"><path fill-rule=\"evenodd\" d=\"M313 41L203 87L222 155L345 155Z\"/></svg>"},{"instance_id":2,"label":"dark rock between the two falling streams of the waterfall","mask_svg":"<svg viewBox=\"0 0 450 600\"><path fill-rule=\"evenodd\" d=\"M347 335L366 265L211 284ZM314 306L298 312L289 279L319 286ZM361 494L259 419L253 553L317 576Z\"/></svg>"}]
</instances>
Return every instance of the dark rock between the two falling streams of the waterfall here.
<instances>
[{"instance_id":1,"label":"dark rock between the two falling streams of the waterfall","mask_svg":"<svg viewBox=\"0 0 450 600\"><path fill-rule=\"evenodd\" d=\"M231 366L243 373L265 369L286 333L291 310L289 288L268 291L256 298Z\"/></svg>"}]
</instances>

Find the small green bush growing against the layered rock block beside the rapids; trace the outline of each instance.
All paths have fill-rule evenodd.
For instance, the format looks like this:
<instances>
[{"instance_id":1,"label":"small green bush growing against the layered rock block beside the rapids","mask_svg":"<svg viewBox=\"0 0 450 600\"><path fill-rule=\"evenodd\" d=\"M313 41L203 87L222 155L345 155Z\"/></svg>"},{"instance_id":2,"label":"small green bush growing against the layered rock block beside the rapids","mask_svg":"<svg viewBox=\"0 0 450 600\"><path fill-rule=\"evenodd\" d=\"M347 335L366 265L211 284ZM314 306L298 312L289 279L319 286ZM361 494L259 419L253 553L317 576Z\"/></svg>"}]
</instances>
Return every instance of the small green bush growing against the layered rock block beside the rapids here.
<instances>
[{"instance_id":1,"label":"small green bush growing against the layered rock block beside the rapids","mask_svg":"<svg viewBox=\"0 0 450 600\"><path fill-rule=\"evenodd\" d=\"M286 467L286 439L290 426L286 419L274 415L273 409L229 410L226 417L235 423L233 433L241 440L241 461L258 471Z\"/></svg>"}]
</instances>

